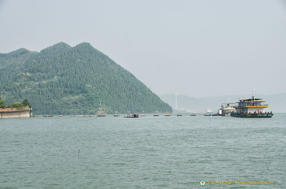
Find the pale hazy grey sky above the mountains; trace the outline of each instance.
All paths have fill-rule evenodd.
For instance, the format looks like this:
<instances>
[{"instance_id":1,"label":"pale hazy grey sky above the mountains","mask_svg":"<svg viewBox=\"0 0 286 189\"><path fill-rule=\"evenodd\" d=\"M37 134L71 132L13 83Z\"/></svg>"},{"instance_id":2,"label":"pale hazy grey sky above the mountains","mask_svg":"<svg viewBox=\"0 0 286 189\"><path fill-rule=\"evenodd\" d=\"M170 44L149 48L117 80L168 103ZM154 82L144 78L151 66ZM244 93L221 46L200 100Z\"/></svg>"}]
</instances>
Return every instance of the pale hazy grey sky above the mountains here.
<instances>
[{"instance_id":1,"label":"pale hazy grey sky above the mountains","mask_svg":"<svg viewBox=\"0 0 286 189\"><path fill-rule=\"evenodd\" d=\"M59 42L90 43L157 95L286 93L286 0L0 0L0 53Z\"/></svg>"}]
</instances>

